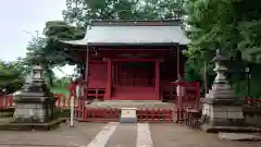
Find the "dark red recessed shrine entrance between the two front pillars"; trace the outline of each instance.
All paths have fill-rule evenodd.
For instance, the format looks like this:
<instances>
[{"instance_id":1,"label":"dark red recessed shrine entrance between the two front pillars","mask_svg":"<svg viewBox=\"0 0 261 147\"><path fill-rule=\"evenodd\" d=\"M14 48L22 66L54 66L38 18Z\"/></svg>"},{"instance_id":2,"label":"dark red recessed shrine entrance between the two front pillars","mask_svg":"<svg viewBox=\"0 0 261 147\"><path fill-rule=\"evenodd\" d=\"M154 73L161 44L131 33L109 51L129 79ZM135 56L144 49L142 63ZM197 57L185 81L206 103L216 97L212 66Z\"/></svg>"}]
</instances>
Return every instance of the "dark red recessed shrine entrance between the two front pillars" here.
<instances>
[{"instance_id":1,"label":"dark red recessed shrine entrance between the two front pillars","mask_svg":"<svg viewBox=\"0 0 261 147\"><path fill-rule=\"evenodd\" d=\"M112 63L112 99L157 100L156 63L152 61Z\"/></svg>"}]
</instances>

